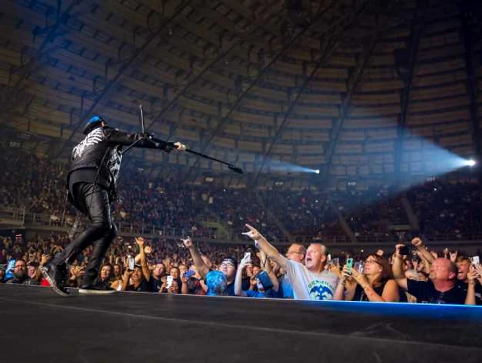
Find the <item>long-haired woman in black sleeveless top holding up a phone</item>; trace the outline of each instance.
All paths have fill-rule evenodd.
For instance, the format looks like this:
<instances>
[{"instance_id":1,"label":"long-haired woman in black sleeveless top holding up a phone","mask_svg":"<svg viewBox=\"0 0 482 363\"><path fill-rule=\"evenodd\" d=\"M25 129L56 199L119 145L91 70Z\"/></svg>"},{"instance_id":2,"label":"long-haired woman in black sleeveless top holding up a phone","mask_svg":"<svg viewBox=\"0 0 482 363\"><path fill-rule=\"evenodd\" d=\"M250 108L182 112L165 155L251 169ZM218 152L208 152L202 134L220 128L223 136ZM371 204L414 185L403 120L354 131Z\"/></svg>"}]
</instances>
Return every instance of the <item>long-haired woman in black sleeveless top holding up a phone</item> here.
<instances>
[{"instance_id":1,"label":"long-haired woman in black sleeveless top holding up a phone","mask_svg":"<svg viewBox=\"0 0 482 363\"><path fill-rule=\"evenodd\" d=\"M392 279L392 269L384 258L373 254L366 258L364 272L343 267L342 278L333 300L398 302L399 288Z\"/></svg>"}]
</instances>

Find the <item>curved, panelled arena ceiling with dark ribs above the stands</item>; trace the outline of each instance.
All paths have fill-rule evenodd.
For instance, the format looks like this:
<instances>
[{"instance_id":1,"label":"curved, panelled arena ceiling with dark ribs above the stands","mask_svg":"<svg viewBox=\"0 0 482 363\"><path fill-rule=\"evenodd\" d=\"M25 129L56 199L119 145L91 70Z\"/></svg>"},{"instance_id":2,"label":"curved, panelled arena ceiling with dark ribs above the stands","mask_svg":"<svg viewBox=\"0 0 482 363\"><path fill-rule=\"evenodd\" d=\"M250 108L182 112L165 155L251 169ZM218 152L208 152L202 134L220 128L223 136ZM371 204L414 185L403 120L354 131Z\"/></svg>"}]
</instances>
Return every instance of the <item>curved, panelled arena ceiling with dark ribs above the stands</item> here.
<instances>
[{"instance_id":1,"label":"curved, panelled arena ceiling with dark ribs above the stands","mask_svg":"<svg viewBox=\"0 0 482 363\"><path fill-rule=\"evenodd\" d=\"M320 170L296 183L430 174L432 144L480 153L481 18L453 0L3 0L3 142L67 158L92 114L138 131L141 103L156 136L251 182L273 160Z\"/></svg>"}]
</instances>

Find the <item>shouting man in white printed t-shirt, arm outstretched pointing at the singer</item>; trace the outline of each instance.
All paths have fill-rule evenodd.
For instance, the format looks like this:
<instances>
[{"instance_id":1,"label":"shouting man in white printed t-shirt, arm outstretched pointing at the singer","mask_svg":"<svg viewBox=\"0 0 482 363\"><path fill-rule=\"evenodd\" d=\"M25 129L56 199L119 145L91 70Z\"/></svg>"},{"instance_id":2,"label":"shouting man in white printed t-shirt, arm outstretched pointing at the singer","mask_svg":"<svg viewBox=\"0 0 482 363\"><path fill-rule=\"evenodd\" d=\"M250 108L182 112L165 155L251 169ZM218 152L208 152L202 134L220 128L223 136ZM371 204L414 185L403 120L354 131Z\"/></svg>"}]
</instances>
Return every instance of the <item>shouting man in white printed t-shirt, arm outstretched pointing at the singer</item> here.
<instances>
[{"instance_id":1,"label":"shouting man in white printed t-shirt, arm outstretched pointing at the singer","mask_svg":"<svg viewBox=\"0 0 482 363\"><path fill-rule=\"evenodd\" d=\"M282 256L254 227L246 227L249 228L249 232L244 232L244 235L252 238L256 247L286 271L295 300L333 300L338 276L324 269L327 260L324 245L312 243L306 249L303 266L300 262Z\"/></svg>"}]
</instances>

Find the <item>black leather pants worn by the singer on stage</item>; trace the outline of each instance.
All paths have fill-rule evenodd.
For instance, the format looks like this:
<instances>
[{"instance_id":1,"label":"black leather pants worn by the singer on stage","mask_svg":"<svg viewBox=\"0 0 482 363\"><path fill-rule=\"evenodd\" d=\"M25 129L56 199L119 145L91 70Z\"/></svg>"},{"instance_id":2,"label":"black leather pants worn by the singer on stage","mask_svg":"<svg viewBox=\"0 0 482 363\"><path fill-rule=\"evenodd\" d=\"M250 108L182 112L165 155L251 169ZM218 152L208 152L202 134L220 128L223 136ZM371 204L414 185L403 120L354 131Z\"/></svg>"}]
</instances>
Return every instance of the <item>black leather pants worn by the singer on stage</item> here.
<instances>
[{"instance_id":1,"label":"black leather pants worn by the singer on stage","mask_svg":"<svg viewBox=\"0 0 482 363\"><path fill-rule=\"evenodd\" d=\"M92 285L98 276L105 253L117 234L111 218L109 194L103 187L94 183L75 183L70 187L70 191L75 205L89 218L90 225L55 256L52 264L71 264L79 253L94 245L83 278L83 285Z\"/></svg>"}]
</instances>

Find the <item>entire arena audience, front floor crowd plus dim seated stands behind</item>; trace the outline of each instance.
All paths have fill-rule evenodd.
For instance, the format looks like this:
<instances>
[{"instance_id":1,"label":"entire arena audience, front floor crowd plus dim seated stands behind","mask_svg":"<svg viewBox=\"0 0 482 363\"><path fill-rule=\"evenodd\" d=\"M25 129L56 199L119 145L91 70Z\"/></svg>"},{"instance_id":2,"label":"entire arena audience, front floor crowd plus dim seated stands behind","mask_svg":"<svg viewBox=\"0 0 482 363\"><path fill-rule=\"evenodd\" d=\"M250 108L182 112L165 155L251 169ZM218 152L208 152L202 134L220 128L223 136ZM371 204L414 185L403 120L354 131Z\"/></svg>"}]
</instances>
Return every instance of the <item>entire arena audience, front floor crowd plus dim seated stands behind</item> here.
<instances>
[{"instance_id":1,"label":"entire arena audience, front floor crowd plus dim seated stands behind","mask_svg":"<svg viewBox=\"0 0 482 363\"><path fill-rule=\"evenodd\" d=\"M75 212L66 202L63 185L65 165L12 150L0 159L6 165L0 176L0 205L48 214L52 225L63 218L74 224ZM111 289L297 300L481 304L482 268L477 256L431 251L420 238L400 243L407 236L390 231L390 225L408 224L400 200L406 198L422 234L440 239L478 234L478 184L433 181L403 196L395 196L397 193L387 188L328 195L308 189L186 185L151 180L136 170L126 174L114 206L116 221L129 223L134 232L146 225L162 226L163 233L151 240L145 236L118 236L114 240L97 279L98 284ZM238 235L244 231L245 245L197 243L196 238L207 229L202 218L215 218ZM344 235L339 218L346 220L356 237L392 239L393 251L331 256L322 242ZM174 229L178 235L192 237L173 240L169 236L174 235ZM287 251L279 251L271 242L279 242L285 233L295 238L312 236L312 243L295 243ZM2 238L0 282L48 286L40 267L48 265L73 237ZM77 256L70 266L67 286L78 287L91 252L87 249Z\"/></svg>"}]
</instances>

